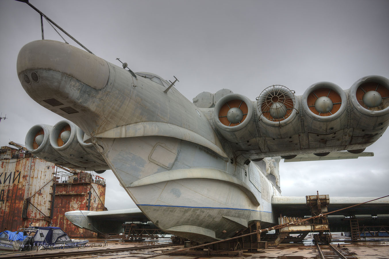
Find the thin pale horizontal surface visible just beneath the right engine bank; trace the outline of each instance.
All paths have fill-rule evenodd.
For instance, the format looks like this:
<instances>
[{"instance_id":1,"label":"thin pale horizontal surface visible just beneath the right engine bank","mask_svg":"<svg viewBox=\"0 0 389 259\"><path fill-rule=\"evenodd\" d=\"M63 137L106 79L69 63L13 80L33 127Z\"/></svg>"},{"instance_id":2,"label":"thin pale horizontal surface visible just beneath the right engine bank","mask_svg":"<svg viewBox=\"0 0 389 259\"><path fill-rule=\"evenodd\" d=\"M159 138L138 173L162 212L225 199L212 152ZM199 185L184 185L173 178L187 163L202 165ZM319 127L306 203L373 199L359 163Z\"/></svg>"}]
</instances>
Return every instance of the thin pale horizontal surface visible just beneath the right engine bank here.
<instances>
[{"instance_id":1,"label":"thin pale horizontal surface visible just beneath the right engine bank","mask_svg":"<svg viewBox=\"0 0 389 259\"><path fill-rule=\"evenodd\" d=\"M318 161L318 160L338 160L338 159L356 159L358 157L373 157L373 152L362 152L359 154L350 153L347 151L331 152L324 157L318 157L315 154L297 155L292 159L284 159L284 162L300 162L300 161Z\"/></svg>"}]
</instances>

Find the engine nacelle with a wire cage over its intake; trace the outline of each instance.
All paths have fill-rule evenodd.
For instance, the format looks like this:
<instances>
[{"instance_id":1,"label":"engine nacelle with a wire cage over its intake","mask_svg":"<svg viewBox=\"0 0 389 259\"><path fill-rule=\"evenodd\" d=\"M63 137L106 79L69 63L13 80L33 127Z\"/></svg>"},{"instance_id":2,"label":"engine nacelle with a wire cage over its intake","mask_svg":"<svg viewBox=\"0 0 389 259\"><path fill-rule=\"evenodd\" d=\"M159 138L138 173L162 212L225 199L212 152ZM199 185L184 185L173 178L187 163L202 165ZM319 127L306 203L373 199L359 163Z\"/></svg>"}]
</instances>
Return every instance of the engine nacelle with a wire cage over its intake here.
<instances>
[{"instance_id":1,"label":"engine nacelle with a wire cage over its intake","mask_svg":"<svg viewBox=\"0 0 389 259\"><path fill-rule=\"evenodd\" d=\"M266 143L272 139L284 139L278 141L281 146L287 145L291 139L301 132L301 122L298 116L299 102L294 92L282 85L269 86L257 97L257 113L259 116L259 132L266 136ZM298 136L296 141L298 143ZM274 146L276 143L271 144Z\"/></svg>"}]
</instances>

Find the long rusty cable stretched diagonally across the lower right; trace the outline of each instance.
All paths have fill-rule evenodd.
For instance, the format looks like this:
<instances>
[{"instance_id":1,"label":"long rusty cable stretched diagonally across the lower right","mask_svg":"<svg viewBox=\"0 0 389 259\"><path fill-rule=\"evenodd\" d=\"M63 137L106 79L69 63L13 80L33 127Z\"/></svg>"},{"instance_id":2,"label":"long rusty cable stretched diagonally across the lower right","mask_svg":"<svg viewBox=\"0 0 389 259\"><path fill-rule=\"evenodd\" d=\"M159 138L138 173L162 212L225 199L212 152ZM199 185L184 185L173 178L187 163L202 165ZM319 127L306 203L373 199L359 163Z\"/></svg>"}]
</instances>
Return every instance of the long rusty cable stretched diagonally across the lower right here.
<instances>
[{"instance_id":1,"label":"long rusty cable stretched diagonally across the lower right","mask_svg":"<svg viewBox=\"0 0 389 259\"><path fill-rule=\"evenodd\" d=\"M375 201L375 200L378 200L378 199L382 199L382 198L385 198L385 197L388 197L388 196L389 196L389 195L383 196L383 197L380 197L380 198L377 198L377 199L373 199L373 200L371 200L371 201ZM358 205L361 205L361 204L364 204L364 203L369 203L369 202L371 202L371 201L365 201L365 202L363 202L363 203L359 203L359 204L356 204L356 205L352 205L352 206L349 206L349 207L346 207L346 208L343 208L343 209L340 209L340 210L335 210L335 211L331 211L331 212L328 212L328 213L323 213L323 214L320 214L320 215L317 215L317 216L314 216L314 217L304 218L304 219L296 220L296 221L293 221L293 222L290 222L290 223L284 223L284 224L280 224L280 225L277 225L277 226L274 226L274 227L269 227L269 228L266 228L266 229L256 230L256 231L253 232L253 233L244 234L244 235L241 235L241 236L235 236L235 237L232 237L232 238L227 238L227 239L223 239L223 240L218 240L218 241L214 241L214 242L206 243L206 244L202 244L202 245L196 245L196 246L194 246L194 247L182 248L182 249L179 249L179 250L174 250L174 251L166 252L166 253L163 253L163 254L150 255L150 256L147 256L147 257L142 257L142 259L149 259L149 258L157 257L157 256L160 256L160 255L174 254L174 253L186 251L186 250L189 250L189 249L205 247L205 246L208 246L208 245L214 245L214 244L217 244L217 243L226 242L226 241L234 240L234 239L237 239L237 238L242 238L242 237L244 237L244 236L250 236L250 235L257 234L257 233L262 233L262 232L268 232L268 231L271 231L271 230L274 230L274 229L280 229L280 228L283 228L283 227L286 227L286 226L296 226L296 225L300 224L301 222L305 222L305 221L307 221L307 220L311 220L311 219L315 219L315 218L324 218L324 217L325 217L326 215L328 215L328 214L331 214L331 213L334 213L334 212L337 212L337 211L346 210L346 209L348 209L348 208L352 208L352 207L355 207L355 206L358 206Z\"/></svg>"}]
</instances>

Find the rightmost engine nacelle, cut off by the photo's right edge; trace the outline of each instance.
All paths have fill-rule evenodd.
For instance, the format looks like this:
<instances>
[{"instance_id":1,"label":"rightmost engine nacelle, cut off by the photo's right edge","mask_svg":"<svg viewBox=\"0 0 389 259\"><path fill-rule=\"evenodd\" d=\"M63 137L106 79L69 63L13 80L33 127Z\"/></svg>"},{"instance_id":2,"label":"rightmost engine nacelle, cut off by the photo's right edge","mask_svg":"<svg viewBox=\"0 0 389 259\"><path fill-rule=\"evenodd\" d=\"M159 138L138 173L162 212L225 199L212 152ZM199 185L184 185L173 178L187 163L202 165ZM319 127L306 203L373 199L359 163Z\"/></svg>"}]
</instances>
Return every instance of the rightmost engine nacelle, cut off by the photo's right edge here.
<instances>
[{"instance_id":1,"label":"rightmost engine nacelle, cut off by the photo's right edge","mask_svg":"<svg viewBox=\"0 0 389 259\"><path fill-rule=\"evenodd\" d=\"M350 144L373 143L389 125L389 80L382 76L365 76L351 86L349 99L350 127L354 128Z\"/></svg>"}]
</instances>

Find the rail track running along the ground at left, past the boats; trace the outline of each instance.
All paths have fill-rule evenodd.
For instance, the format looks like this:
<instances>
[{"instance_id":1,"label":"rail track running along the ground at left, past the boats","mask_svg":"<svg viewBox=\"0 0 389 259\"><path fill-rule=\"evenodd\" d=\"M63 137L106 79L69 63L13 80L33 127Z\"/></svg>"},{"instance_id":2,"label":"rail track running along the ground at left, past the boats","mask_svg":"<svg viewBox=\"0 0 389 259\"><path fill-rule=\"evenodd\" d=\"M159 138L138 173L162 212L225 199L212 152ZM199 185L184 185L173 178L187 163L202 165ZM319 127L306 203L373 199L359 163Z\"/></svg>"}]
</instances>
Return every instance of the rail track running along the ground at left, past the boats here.
<instances>
[{"instance_id":1,"label":"rail track running along the ground at left, past the boats","mask_svg":"<svg viewBox=\"0 0 389 259\"><path fill-rule=\"evenodd\" d=\"M65 257L75 257L75 256L83 256L86 255L96 255L96 254L109 254L109 253L117 253L117 252L127 252L127 251L139 251L139 250L148 250L152 248L159 248L159 247L173 247L177 246L174 244L162 244L162 245L145 245L140 247L126 247L126 248L95 248L95 249L79 249L77 251L72 252L63 252L63 250L56 250L56 253L39 253L39 254L33 254L33 253L27 253L27 254L21 254L21 253L15 253L10 256L2 256L0 255L0 259L24 259L24 258L34 258L34 259L46 259L46 258L65 258ZM150 253L150 252L147 252Z\"/></svg>"}]
</instances>

